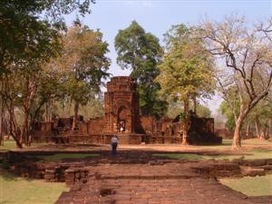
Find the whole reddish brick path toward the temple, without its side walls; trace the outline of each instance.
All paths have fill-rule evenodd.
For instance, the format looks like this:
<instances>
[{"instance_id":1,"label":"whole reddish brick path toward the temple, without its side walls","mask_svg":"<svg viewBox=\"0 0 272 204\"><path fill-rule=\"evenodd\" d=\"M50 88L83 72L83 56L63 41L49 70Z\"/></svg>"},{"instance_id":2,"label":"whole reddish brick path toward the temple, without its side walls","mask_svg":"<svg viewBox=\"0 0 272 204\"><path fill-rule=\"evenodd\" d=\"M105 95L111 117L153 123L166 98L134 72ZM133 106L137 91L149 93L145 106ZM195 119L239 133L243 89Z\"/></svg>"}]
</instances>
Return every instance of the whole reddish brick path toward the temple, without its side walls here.
<instances>
[{"instance_id":1,"label":"whole reddish brick path toward the temple, without its side walls","mask_svg":"<svg viewBox=\"0 0 272 204\"><path fill-rule=\"evenodd\" d=\"M136 155L136 154L135 154ZM191 169L199 162L174 160L147 162L144 156L130 163L119 155L108 163L91 163L85 183L63 192L56 204L257 204L272 203L270 197L247 197L223 186L216 179L205 179ZM134 159L133 159L134 158ZM137 162L136 162L137 161ZM141 163L142 161L142 163Z\"/></svg>"}]
</instances>

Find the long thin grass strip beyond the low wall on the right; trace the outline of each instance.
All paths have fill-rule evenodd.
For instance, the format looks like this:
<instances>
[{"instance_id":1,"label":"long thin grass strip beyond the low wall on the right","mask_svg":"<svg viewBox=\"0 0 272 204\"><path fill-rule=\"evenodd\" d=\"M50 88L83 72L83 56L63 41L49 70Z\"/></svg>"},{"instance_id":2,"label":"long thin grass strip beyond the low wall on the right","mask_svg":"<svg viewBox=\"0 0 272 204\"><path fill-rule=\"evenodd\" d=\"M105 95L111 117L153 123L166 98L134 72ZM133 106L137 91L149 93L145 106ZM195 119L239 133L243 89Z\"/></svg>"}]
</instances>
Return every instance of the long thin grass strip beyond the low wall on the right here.
<instances>
[{"instance_id":1,"label":"long thin grass strip beyond the low wall on the right","mask_svg":"<svg viewBox=\"0 0 272 204\"><path fill-rule=\"evenodd\" d=\"M256 159L271 159L272 158L272 150L267 149L252 149L250 151L247 151L245 153L241 153L239 155L217 155L217 156L211 156L211 155L200 155L200 154L194 154L194 153L160 153L160 154L153 154L155 157L167 157L170 159L180 159L180 160L234 160L238 159L240 157L244 157L245 160L256 160Z\"/></svg>"}]
</instances>

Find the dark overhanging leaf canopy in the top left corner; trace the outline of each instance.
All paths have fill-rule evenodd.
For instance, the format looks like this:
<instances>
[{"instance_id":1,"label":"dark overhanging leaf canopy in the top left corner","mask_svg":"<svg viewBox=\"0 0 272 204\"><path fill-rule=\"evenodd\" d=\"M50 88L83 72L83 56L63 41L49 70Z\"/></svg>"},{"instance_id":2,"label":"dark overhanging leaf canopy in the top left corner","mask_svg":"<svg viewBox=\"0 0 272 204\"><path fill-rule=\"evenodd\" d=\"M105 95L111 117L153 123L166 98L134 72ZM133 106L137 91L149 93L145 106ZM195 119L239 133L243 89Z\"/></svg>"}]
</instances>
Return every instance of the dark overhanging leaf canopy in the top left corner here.
<instances>
[{"instance_id":1,"label":"dark overhanging leaf canopy in the top left corner","mask_svg":"<svg viewBox=\"0 0 272 204\"><path fill-rule=\"evenodd\" d=\"M0 73L16 62L51 56L48 46L63 28L63 14L90 12L92 0L3 0L0 2ZM41 15L50 16L42 20ZM49 23L52 22L52 23Z\"/></svg>"}]
</instances>

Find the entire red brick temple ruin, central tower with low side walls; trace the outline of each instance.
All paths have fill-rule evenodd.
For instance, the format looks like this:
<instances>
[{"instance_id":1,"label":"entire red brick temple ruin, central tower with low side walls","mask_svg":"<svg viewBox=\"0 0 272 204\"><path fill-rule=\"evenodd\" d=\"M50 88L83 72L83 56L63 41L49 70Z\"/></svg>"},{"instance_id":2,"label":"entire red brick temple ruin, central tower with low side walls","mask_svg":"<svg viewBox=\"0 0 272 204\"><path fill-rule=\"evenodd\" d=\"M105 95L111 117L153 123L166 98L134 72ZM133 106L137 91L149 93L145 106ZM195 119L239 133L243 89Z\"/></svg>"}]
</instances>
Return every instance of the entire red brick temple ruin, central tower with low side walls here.
<instances>
[{"instance_id":1,"label":"entire red brick temple ruin, central tower with low side walls","mask_svg":"<svg viewBox=\"0 0 272 204\"><path fill-rule=\"evenodd\" d=\"M104 116L89 121L80 116L76 131L72 131L73 117L36 122L33 141L107 144L116 134L123 144L181 143L182 122L141 116L136 88L137 83L129 76L112 77L104 93ZM189 144L221 143L222 139L214 133L213 118L199 118L191 113L189 121Z\"/></svg>"}]
</instances>

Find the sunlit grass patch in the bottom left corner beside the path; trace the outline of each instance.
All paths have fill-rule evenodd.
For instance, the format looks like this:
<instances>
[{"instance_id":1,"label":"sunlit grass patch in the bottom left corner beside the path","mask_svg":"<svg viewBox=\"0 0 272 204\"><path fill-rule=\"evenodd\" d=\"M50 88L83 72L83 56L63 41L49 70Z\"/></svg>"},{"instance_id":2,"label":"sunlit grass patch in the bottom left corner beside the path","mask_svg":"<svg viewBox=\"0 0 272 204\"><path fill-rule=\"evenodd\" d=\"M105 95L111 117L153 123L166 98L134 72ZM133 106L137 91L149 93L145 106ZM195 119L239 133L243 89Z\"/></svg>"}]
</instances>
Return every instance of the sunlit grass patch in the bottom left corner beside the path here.
<instances>
[{"instance_id":1,"label":"sunlit grass patch in the bottom left corner beside the path","mask_svg":"<svg viewBox=\"0 0 272 204\"><path fill-rule=\"evenodd\" d=\"M63 191L64 183L27 180L0 172L1 204L53 204Z\"/></svg>"}]
</instances>

